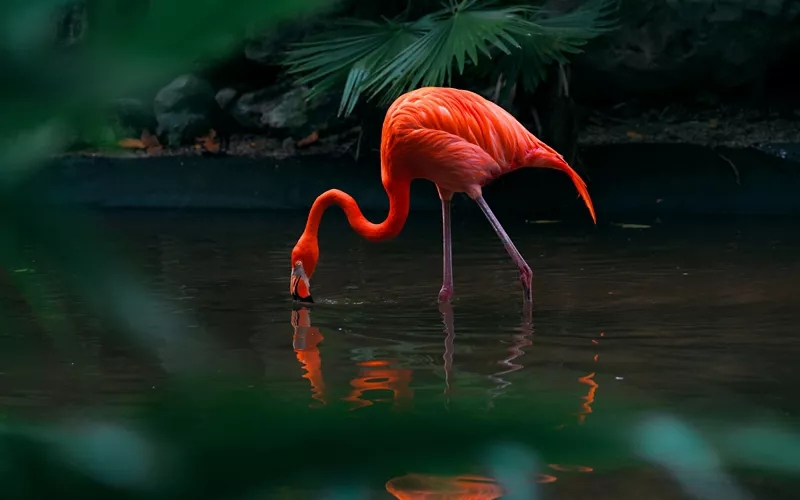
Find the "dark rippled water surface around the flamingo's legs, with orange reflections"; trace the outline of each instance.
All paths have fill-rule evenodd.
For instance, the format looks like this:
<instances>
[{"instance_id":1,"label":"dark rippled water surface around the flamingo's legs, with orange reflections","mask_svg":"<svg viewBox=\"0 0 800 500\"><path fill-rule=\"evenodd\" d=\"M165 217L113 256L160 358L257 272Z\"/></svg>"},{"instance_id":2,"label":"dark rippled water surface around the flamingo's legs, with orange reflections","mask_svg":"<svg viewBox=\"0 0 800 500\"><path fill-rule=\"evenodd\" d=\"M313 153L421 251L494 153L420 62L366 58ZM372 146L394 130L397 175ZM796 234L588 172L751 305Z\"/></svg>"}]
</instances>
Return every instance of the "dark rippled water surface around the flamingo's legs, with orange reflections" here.
<instances>
[{"instance_id":1,"label":"dark rippled water surface around the flamingo's legs, with orange reflections","mask_svg":"<svg viewBox=\"0 0 800 500\"><path fill-rule=\"evenodd\" d=\"M198 332L210 370L305 395L310 405L469 401L491 410L555 391L574 401L567 426L601 414L606 395L732 417L800 415L794 221L508 222L534 270L528 324L516 269L479 214L454 216L455 299L445 321L435 212L412 213L398 238L373 244L332 210L312 279L317 303L299 311L288 295L289 254L304 214L102 218L143 280ZM8 412L123 414L164 380L168 361L108 340L63 297L46 300L80 325L78 346L42 333L11 288L0 293L18 311L15 327L0 332ZM550 472L554 498L684 498L660 476ZM759 481L759 498L791 498L785 485Z\"/></svg>"}]
</instances>

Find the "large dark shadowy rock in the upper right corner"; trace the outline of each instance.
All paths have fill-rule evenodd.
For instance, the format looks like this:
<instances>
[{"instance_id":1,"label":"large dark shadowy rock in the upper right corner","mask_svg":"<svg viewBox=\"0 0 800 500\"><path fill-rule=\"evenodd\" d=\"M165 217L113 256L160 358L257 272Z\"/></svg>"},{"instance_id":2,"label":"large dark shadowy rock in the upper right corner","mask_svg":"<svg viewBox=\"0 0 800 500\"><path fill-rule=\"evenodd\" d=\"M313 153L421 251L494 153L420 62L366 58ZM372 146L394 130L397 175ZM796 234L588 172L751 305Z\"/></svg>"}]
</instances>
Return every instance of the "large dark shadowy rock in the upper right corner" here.
<instances>
[{"instance_id":1,"label":"large dark shadowy rock in the upper right corner","mask_svg":"<svg viewBox=\"0 0 800 500\"><path fill-rule=\"evenodd\" d=\"M800 50L796 6L796 0L626 0L619 28L574 59L573 89L580 99L630 99L752 84Z\"/></svg>"}]
</instances>

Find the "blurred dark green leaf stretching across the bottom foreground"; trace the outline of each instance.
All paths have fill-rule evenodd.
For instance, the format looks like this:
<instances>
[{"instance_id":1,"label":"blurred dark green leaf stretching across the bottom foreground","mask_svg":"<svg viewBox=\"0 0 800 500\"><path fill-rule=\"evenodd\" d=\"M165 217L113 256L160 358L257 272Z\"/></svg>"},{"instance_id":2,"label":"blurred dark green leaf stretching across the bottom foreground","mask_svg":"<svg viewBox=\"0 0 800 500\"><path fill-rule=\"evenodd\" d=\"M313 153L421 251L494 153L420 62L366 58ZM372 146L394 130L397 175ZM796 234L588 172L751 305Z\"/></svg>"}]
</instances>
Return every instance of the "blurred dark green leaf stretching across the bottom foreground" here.
<instances>
[{"instance_id":1,"label":"blurred dark green leaf stretching across the bottom foreground","mask_svg":"<svg viewBox=\"0 0 800 500\"><path fill-rule=\"evenodd\" d=\"M694 419L692 432L665 441L667 430L688 429L685 418L621 401L607 402L605 415L585 425L558 432L558 396L498 401L491 414L419 403L412 412L377 406L352 412L338 404L309 409L296 393L219 378L175 379L129 424L28 426L9 419L0 429L0 488L17 492L4 498L85 500L245 498L341 484L382 489L409 472L480 474L494 466L493 474L502 477L511 472L495 460L502 449L530 453L531 464L534 458L540 465L584 464L599 473L647 467L651 458L679 467L697 449L739 471L791 475L800 467L790 447L778 446L798 440L787 422L720 426L714 418ZM742 430L745 438L737 439ZM736 449L729 446L734 443ZM771 457L758 453L770 446L778 446ZM780 467L763 460L778 455ZM705 477L703 470L693 472L694 480Z\"/></svg>"}]
</instances>

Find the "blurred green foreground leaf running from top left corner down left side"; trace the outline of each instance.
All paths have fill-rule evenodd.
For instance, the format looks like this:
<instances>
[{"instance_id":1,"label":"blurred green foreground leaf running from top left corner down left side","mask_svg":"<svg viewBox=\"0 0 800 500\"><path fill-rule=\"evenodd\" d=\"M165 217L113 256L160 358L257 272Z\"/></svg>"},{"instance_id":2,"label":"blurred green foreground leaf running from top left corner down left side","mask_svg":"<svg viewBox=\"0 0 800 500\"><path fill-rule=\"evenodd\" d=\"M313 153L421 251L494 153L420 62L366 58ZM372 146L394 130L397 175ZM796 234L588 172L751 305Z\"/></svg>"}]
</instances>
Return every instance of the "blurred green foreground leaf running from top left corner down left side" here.
<instances>
[{"instance_id":1,"label":"blurred green foreground leaf running from top left corner down left side","mask_svg":"<svg viewBox=\"0 0 800 500\"><path fill-rule=\"evenodd\" d=\"M0 267L53 271L116 331L154 349L168 370L194 363L186 332L140 282L108 235L78 210L39 199L37 167L78 138L111 145L117 132L102 125L112 98L178 73L201 68L237 50L248 33L269 30L329 0L12 0L0 5ZM84 36L60 44L64 9L85 5ZM136 10L137 8L141 10ZM31 258L31 255L33 258ZM70 337L60 305L38 275L11 273L45 330ZM61 319L60 319L61 318ZM197 335L197 332L193 332ZM164 351L163 345L168 347Z\"/></svg>"}]
</instances>

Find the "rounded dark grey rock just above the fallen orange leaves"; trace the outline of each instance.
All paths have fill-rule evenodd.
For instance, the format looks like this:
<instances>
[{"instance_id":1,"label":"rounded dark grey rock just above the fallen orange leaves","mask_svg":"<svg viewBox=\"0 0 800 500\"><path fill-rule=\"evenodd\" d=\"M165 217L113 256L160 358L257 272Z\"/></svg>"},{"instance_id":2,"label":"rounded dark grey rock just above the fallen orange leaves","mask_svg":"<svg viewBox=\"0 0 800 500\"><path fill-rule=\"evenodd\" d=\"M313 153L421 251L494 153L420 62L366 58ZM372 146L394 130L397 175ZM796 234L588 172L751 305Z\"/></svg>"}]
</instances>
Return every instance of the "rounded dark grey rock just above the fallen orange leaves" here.
<instances>
[{"instance_id":1,"label":"rounded dark grey rock just above the fallen orange leaves","mask_svg":"<svg viewBox=\"0 0 800 500\"><path fill-rule=\"evenodd\" d=\"M193 143L212 127L219 105L214 89L194 75L181 75L156 95L153 104L158 135L166 136L170 146Z\"/></svg>"}]
</instances>

